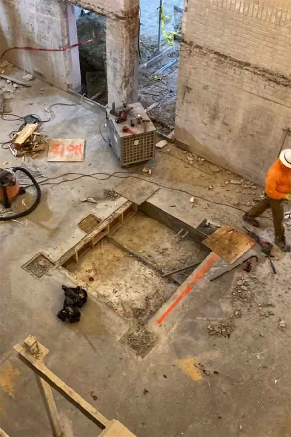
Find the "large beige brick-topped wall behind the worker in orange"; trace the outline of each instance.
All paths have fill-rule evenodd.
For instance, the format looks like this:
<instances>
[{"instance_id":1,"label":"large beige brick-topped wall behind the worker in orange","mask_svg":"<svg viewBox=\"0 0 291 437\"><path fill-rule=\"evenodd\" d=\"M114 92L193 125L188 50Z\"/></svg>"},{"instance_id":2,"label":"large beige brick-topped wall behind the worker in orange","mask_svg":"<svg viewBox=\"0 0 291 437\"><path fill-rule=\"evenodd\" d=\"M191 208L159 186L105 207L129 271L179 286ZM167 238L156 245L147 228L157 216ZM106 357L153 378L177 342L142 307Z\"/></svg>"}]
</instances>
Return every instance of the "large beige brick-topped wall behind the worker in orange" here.
<instances>
[{"instance_id":1,"label":"large beige brick-topped wall behind the worker in orange","mask_svg":"<svg viewBox=\"0 0 291 437\"><path fill-rule=\"evenodd\" d=\"M290 31L290 1L185 0L177 143L263 184L291 124Z\"/></svg>"}]
</instances>

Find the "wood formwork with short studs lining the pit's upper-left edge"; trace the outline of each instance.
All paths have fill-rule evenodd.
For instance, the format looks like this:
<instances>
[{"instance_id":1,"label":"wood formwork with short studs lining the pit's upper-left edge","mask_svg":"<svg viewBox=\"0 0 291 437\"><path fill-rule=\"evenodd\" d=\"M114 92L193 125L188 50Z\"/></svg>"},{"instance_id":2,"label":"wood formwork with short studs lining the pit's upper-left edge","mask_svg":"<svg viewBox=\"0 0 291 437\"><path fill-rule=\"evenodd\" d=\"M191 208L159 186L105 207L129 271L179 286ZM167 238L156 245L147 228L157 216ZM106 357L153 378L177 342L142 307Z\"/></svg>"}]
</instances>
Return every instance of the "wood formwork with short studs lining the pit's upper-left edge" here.
<instances>
[{"instance_id":1,"label":"wood formwork with short studs lining the pit's upper-left edge","mask_svg":"<svg viewBox=\"0 0 291 437\"><path fill-rule=\"evenodd\" d=\"M126 202L118 208L108 218L101 221L93 231L89 232L84 238L68 250L56 263L59 267L66 268L69 264L77 263L79 256L87 249L93 250L95 245L106 235L113 234L123 223L133 217L138 210L138 205L132 202Z\"/></svg>"}]
</instances>

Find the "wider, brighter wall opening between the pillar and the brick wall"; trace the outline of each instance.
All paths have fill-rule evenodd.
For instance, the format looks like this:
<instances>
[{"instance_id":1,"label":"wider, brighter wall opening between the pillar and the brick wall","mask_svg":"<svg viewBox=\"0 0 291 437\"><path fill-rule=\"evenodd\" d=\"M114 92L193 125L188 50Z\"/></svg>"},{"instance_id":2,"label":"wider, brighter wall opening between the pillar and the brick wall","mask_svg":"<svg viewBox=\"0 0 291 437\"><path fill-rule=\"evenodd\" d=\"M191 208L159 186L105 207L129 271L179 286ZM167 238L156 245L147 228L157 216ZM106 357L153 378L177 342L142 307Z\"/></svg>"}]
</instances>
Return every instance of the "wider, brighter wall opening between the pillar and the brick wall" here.
<instances>
[{"instance_id":1,"label":"wider, brighter wall opening between the pillar and the brick wall","mask_svg":"<svg viewBox=\"0 0 291 437\"><path fill-rule=\"evenodd\" d=\"M150 2L140 0L138 100L144 108L152 107L149 110L149 116L156 128L163 134L169 134L175 126L183 0L165 0L162 3L166 34L170 35L174 31L178 33L174 35L171 46L162 32L161 24L160 50L158 45L159 6L160 0ZM162 56L152 62L151 60L159 54ZM172 62L170 67L158 72L170 62ZM157 80L155 77L161 79Z\"/></svg>"}]
</instances>

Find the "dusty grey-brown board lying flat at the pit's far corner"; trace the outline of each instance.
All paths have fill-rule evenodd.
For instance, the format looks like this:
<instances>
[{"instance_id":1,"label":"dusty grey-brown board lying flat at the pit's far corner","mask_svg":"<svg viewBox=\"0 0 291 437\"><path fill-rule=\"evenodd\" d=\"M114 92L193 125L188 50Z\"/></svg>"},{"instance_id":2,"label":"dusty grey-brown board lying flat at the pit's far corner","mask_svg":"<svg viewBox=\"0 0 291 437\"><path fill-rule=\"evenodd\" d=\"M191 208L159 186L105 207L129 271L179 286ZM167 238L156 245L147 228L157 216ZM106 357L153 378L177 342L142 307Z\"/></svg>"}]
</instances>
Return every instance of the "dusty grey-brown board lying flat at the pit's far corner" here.
<instances>
[{"instance_id":1,"label":"dusty grey-brown board lying flat at the pit's far corner","mask_svg":"<svg viewBox=\"0 0 291 437\"><path fill-rule=\"evenodd\" d=\"M145 202L158 189L157 185L136 178L127 178L114 188L116 193L137 205Z\"/></svg>"}]
</instances>

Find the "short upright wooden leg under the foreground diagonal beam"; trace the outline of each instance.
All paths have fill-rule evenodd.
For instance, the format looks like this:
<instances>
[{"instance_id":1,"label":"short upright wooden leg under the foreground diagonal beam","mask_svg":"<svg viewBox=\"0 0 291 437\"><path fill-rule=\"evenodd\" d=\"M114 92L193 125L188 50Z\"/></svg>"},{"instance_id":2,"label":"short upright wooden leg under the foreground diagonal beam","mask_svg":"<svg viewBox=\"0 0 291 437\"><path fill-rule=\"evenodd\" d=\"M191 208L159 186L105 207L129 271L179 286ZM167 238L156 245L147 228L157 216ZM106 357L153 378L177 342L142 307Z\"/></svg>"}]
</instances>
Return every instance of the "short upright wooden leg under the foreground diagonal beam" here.
<instances>
[{"instance_id":1,"label":"short upright wooden leg under the foreground diagonal beam","mask_svg":"<svg viewBox=\"0 0 291 437\"><path fill-rule=\"evenodd\" d=\"M63 433L63 428L57 411L56 403L54 402L51 388L40 376L34 374L36 382L45 405L47 415L53 435L59 437Z\"/></svg>"}]
</instances>

